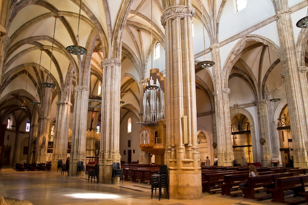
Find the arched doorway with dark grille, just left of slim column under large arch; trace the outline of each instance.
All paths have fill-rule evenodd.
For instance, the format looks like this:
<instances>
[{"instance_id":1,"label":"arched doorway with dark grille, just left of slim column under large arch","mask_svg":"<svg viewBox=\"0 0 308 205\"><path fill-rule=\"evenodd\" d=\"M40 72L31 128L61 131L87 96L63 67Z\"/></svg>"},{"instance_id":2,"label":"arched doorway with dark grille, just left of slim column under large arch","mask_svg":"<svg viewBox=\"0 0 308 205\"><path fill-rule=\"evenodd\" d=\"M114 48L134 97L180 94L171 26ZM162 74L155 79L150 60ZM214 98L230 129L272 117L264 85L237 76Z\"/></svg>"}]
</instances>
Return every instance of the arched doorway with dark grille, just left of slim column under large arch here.
<instances>
[{"instance_id":1,"label":"arched doorway with dark grille, just left of slim column under large arch","mask_svg":"<svg viewBox=\"0 0 308 205\"><path fill-rule=\"evenodd\" d=\"M233 139L233 154L237 165L246 166L253 163L252 143L249 120L246 116L238 114L231 120L231 133Z\"/></svg>"}]
</instances>

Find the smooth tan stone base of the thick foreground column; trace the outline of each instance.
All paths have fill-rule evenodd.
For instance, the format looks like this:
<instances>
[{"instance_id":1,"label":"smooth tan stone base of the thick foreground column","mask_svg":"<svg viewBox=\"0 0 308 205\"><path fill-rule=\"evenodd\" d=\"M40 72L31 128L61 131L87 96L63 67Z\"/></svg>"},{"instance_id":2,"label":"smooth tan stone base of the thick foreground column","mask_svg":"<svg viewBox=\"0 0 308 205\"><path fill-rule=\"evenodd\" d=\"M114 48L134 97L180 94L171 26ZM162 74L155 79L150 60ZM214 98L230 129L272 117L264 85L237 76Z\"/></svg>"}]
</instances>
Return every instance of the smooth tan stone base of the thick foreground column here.
<instances>
[{"instance_id":1,"label":"smooth tan stone base of the thick foreground column","mask_svg":"<svg viewBox=\"0 0 308 205\"><path fill-rule=\"evenodd\" d=\"M169 197L183 200L201 199L201 170L170 170Z\"/></svg>"}]
</instances>

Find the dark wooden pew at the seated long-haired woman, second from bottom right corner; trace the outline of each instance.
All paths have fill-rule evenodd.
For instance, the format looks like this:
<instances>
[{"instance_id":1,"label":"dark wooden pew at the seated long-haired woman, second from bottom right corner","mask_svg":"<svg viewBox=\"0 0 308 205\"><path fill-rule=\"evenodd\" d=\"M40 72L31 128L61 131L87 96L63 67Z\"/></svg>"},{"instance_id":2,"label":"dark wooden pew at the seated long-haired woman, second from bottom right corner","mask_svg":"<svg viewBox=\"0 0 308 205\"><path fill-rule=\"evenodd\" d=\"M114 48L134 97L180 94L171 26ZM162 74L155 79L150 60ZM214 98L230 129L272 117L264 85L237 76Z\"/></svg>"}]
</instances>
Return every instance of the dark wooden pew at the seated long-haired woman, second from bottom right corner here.
<instances>
[{"instance_id":1,"label":"dark wooden pew at the seated long-haired woman, second from bottom right corner","mask_svg":"<svg viewBox=\"0 0 308 205\"><path fill-rule=\"evenodd\" d=\"M266 191L265 188L257 189L260 187L271 188L275 187L276 178L278 177L285 177L285 176L293 176L295 173L277 173L277 174L270 174L270 175L260 175L256 177L248 177L247 178L247 186L243 187L244 191L244 198L251 198L256 200L265 200L272 198L271 195L265 195L261 197L255 197L256 192Z\"/></svg>"}]
</instances>

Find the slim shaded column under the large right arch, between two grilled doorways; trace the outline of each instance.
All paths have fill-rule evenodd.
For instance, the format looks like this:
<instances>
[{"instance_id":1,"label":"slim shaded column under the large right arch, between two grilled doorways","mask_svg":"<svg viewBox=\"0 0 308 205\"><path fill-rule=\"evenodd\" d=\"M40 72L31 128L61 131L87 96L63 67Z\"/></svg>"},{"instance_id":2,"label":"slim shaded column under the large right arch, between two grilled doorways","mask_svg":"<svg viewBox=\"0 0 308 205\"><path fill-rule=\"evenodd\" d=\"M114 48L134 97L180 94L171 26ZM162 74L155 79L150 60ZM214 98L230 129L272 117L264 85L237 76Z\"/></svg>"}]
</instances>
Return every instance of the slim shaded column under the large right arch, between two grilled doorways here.
<instances>
[{"instance_id":1,"label":"slim shaded column under the large right arch, between two grilled doorways","mask_svg":"<svg viewBox=\"0 0 308 205\"><path fill-rule=\"evenodd\" d=\"M261 99L256 101L259 123L259 135L261 144L261 164L262 166L271 167L271 150L270 150L270 135L269 121L267 118L267 100ZM263 141L263 140L264 141ZM258 142L257 142L258 143Z\"/></svg>"}]
</instances>

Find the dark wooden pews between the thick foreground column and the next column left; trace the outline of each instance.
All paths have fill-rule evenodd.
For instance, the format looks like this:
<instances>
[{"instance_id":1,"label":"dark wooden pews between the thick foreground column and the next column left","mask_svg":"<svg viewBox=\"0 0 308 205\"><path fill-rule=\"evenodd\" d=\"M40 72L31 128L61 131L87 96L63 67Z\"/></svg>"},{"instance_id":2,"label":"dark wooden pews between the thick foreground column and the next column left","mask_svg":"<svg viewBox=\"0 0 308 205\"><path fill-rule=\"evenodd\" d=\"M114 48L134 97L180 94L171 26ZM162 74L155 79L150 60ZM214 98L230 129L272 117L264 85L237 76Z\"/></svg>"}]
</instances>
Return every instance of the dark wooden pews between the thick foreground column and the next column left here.
<instances>
[{"instance_id":1,"label":"dark wooden pews between the thick foreground column and the next column left","mask_svg":"<svg viewBox=\"0 0 308 205\"><path fill-rule=\"evenodd\" d=\"M125 181L151 183L152 175L159 172L159 165L122 164Z\"/></svg>"}]
</instances>

